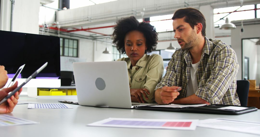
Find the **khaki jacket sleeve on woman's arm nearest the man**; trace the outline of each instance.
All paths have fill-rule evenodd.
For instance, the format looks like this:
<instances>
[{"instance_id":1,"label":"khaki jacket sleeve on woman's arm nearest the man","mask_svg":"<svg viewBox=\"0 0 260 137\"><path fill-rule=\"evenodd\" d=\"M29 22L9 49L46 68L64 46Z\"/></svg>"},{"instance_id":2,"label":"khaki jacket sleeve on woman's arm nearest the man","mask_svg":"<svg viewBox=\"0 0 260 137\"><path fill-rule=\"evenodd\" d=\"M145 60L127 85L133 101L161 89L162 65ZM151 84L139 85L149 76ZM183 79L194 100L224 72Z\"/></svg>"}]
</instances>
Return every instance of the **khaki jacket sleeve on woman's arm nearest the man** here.
<instances>
[{"instance_id":1,"label":"khaki jacket sleeve on woman's arm nearest the man","mask_svg":"<svg viewBox=\"0 0 260 137\"><path fill-rule=\"evenodd\" d=\"M146 73L146 83L143 86L143 88L146 88L150 92L149 95L147 94L148 100L144 98L148 103L151 103L154 100L154 89L162 78L163 70L162 57L160 55L155 55L149 64L149 71Z\"/></svg>"}]
</instances>

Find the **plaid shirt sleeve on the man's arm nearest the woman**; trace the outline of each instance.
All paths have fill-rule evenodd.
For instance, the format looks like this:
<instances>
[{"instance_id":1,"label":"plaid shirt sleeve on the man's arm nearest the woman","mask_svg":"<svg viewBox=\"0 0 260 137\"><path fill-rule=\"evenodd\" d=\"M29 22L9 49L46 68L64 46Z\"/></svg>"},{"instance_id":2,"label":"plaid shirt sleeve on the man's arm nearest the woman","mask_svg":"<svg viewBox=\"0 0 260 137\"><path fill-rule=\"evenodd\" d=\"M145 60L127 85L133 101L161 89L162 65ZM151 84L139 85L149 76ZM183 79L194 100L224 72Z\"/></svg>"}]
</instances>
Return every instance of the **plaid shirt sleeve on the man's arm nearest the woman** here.
<instances>
[{"instance_id":1,"label":"plaid shirt sleeve on the man's arm nearest the woman","mask_svg":"<svg viewBox=\"0 0 260 137\"><path fill-rule=\"evenodd\" d=\"M174 54L168 63L166 74L162 78L161 82L155 87L155 91L164 86L175 86L176 85L176 71L174 67Z\"/></svg>"}]
</instances>

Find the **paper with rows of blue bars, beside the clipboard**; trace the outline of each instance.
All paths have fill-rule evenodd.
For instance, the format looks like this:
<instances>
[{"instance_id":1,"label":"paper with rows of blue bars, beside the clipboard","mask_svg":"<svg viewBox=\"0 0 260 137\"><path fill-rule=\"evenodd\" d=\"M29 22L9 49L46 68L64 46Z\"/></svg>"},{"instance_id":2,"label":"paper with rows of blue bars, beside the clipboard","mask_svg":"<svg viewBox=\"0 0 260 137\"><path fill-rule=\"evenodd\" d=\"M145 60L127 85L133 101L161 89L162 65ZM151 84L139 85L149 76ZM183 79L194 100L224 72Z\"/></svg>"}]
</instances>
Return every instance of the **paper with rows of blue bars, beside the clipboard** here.
<instances>
[{"instance_id":1,"label":"paper with rows of blue bars, beside the clipboard","mask_svg":"<svg viewBox=\"0 0 260 137\"><path fill-rule=\"evenodd\" d=\"M49 109L49 108L73 108L69 104L28 104L28 108Z\"/></svg>"}]
</instances>

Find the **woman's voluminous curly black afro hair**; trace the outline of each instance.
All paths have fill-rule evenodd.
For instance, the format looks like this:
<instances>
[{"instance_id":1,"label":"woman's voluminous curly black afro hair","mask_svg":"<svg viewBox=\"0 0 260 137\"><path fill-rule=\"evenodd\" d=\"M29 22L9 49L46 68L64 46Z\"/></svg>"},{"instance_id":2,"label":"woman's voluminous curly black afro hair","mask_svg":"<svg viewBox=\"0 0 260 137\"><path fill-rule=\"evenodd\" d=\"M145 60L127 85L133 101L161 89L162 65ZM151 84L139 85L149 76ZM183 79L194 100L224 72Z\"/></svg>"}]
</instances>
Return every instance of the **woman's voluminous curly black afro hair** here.
<instances>
[{"instance_id":1,"label":"woman's voluminous curly black afro hair","mask_svg":"<svg viewBox=\"0 0 260 137\"><path fill-rule=\"evenodd\" d=\"M114 26L112 35L114 37L113 44L116 45L116 48L120 53L126 53L124 42L126 34L135 30L141 32L146 39L145 45L147 46L147 50L145 50L145 53L150 53L156 49L158 33L156 32L155 27L146 22L139 23L134 16L131 16L121 18Z\"/></svg>"}]
</instances>

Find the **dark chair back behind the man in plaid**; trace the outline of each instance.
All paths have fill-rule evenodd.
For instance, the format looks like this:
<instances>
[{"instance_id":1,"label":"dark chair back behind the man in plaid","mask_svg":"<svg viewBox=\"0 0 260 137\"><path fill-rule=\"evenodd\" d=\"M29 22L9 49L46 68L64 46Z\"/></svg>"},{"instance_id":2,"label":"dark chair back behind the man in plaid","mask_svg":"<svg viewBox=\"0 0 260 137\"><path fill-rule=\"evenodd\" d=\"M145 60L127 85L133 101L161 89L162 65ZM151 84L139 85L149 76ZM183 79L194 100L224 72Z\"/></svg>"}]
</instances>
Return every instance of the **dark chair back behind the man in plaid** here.
<instances>
[{"instance_id":1,"label":"dark chair back behind the man in plaid","mask_svg":"<svg viewBox=\"0 0 260 137\"><path fill-rule=\"evenodd\" d=\"M237 80L237 94L241 106L247 106L248 92L249 92L249 81Z\"/></svg>"}]
</instances>

